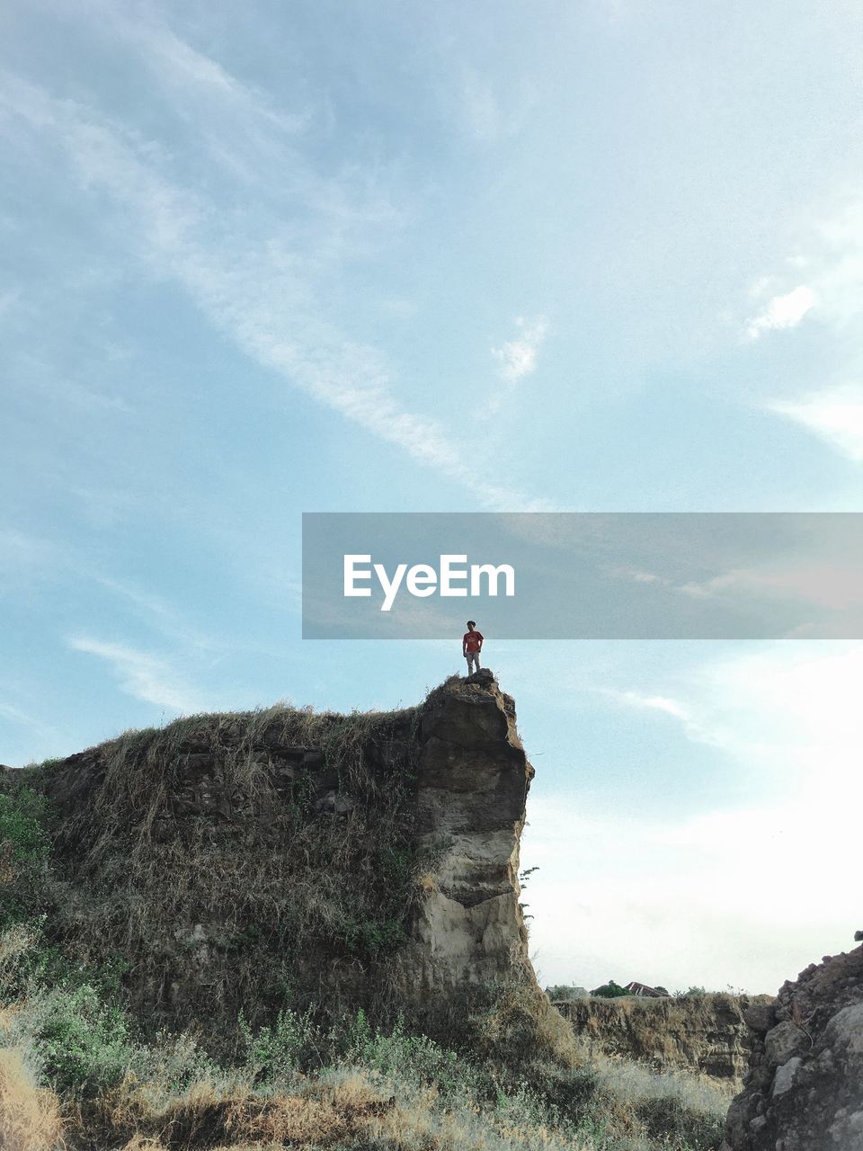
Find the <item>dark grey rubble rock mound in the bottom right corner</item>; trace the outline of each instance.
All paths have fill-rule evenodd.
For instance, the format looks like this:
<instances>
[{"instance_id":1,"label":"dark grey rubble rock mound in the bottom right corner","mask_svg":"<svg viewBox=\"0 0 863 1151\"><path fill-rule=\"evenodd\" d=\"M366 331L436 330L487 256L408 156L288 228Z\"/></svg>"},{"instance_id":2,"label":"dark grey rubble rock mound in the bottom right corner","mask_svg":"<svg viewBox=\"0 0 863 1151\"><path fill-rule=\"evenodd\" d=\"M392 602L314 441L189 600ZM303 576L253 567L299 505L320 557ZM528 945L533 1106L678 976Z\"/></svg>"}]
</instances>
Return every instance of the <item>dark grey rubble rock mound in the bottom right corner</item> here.
<instances>
[{"instance_id":1,"label":"dark grey rubble rock mound in the bottom right corner","mask_svg":"<svg viewBox=\"0 0 863 1151\"><path fill-rule=\"evenodd\" d=\"M825 955L746 1017L754 1050L725 1151L863 1151L863 947Z\"/></svg>"}]
</instances>

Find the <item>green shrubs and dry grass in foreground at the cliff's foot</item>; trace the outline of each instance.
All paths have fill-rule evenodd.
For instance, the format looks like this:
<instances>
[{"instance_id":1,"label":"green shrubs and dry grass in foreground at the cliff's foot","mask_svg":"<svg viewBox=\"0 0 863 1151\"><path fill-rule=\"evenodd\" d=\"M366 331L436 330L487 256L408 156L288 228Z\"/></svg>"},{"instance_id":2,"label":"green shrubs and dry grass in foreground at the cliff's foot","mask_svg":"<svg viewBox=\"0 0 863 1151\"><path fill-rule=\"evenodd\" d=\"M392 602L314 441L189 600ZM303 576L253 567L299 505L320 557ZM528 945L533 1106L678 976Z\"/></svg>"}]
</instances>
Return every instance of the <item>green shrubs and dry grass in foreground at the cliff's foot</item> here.
<instances>
[{"instance_id":1,"label":"green shrubs and dry grass in foreground at the cliff's foot","mask_svg":"<svg viewBox=\"0 0 863 1151\"><path fill-rule=\"evenodd\" d=\"M524 986L465 1004L448 1045L362 1009L321 1026L237 1021L237 1054L190 1032L144 1039L110 973L44 982L38 937L0 943L0 1143L8 1151L708 1151L727 1096L590 1059ZM31 975L22 993L21 962ZM13 991L13 989L15 989Z\"/></svg>"}]
</instances>

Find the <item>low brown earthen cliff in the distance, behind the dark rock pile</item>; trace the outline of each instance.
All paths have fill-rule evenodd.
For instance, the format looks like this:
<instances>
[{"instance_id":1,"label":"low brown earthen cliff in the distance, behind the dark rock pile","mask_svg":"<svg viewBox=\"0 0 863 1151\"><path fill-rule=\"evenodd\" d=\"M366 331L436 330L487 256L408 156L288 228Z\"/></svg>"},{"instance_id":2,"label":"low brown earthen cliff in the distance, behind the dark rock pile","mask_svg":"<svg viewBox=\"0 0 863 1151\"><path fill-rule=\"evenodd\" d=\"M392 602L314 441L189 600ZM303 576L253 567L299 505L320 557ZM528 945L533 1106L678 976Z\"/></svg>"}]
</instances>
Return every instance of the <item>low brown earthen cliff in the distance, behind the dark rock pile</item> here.
<instances>
[{"instance_id":1,"label":"low brown earthen cliff in the distance, behind the dark rock pile","mask_svg":"<svg viewBox=\"0 0 863 1151\"><path fill-rule=\"evenodd\" d=\"M753 1050L744 1014L769 996L716 992L682 998L588 997L556 1003L578 1035L597 1050L650 1064L686 1068L740 1087Z\"/></svg>"}]
</instances>

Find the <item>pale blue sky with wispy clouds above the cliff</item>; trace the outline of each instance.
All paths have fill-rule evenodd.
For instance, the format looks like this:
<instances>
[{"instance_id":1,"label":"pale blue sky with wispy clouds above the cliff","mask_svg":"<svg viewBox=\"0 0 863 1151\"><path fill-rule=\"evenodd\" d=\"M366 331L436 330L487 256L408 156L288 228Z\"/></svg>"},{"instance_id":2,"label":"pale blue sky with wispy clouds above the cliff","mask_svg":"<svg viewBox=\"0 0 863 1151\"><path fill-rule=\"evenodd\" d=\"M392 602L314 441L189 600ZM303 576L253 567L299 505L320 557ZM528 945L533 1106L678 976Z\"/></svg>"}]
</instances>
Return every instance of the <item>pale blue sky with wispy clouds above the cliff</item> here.
<instances>
[{"instance_id":1,"label":"pale blue sky with wispy clouds above the cliff","mask_svg":"<svg viewBox=\"0 0 863 1151\"><path fill-rule=\"evenodd\" d=\"M853 0L7 0L0 761L452 642L303 640L301 513L863 511ZM481 626L481 622L480 622ZM863 643L495 641L543 983L853 946Z\"/></svg>"}]
</instances>

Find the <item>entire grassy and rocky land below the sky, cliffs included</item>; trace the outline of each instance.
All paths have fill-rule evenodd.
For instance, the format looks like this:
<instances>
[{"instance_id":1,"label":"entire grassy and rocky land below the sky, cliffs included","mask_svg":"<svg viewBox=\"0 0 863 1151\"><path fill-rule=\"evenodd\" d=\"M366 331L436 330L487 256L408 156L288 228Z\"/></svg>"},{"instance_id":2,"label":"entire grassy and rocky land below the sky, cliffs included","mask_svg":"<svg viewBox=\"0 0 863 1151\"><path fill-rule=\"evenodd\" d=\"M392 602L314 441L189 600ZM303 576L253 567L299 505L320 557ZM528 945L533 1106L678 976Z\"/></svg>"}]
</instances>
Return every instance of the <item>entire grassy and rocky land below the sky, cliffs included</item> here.
<instances>
[{"instance_id":1,"label":"entire grassy and rocky land below the sky, cliffs included","mask_svg":"<svg viewBox=\"0 0 863 1151\"><path fill-rule=\"evenodd\" d=\"M0 771L0 1146L820 1151L817 1106L856 1151L863 948L776 1004L564 1019L519 904L532 778L487 671Z\"/></svg>"}]
</instances>

